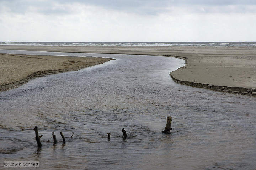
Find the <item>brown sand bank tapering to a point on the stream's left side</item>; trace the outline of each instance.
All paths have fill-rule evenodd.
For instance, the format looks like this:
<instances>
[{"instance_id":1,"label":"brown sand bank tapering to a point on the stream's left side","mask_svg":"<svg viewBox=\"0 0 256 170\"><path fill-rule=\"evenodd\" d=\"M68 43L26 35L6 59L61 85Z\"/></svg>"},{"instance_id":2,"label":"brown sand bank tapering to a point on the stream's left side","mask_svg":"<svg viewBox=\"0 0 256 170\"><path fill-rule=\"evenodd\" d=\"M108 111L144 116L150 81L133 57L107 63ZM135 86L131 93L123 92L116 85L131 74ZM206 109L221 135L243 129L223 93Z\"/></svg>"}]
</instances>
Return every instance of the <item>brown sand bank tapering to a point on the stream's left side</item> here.
<instances>
[{"instance_id":1,"label":"brown sand bank tapering to a point on the stream's left side","mask_svg":"<svg viewBox=\"0 0 256 170\"><path fill-rule=\"evenodd\" d=\"M15 88L41 75L79 70L111 59L0 54L0 91Z\"/></svg>"}]
</instances>

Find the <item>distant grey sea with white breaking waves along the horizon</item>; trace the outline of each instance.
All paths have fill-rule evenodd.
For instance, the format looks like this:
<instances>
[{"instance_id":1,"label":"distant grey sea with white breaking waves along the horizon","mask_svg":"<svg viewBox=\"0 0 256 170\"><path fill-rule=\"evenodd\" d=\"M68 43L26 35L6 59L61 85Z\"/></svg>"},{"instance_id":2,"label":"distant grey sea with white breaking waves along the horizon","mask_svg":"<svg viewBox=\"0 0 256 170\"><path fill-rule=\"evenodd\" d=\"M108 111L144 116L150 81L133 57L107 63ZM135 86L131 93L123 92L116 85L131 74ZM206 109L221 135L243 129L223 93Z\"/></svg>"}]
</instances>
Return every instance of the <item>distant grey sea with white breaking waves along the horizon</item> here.
<instances>
[{"instance_id":1,"label":"distant grey sea with white breaking waves along the horizon","mask_svg":"<svg viewBox=\"0 0 256 170\"><path fill-rule=\"evenodd\" d=\"M20 46L245 46L255 47L256 42L0 42L0 45Z\"/></svg>"}]
</instances>

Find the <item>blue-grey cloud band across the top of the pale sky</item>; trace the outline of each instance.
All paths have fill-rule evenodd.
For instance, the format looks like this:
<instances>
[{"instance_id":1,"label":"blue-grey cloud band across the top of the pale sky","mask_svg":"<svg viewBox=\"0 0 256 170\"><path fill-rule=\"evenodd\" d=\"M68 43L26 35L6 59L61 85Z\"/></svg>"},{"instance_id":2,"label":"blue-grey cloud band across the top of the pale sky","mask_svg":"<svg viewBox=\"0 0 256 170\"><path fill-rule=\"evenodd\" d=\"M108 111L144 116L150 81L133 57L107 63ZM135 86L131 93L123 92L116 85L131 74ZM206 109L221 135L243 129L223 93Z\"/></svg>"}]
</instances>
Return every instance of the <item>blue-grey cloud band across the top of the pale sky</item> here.
<instances>
[{"instance_id":1,"label":"blue-grey cloud band across the top of the pale sky","mask_svg":"<svg viewBox=\"0 0 256 170\"><path fill-rule=\"evenodd\" d=\"M66 6L74 3L140 15L157 15L177 8L191 13L256 12L255 0L1 0L0 12L9 10L13 13L69 14L75 10Z\"/></svg>"}]
</instances>

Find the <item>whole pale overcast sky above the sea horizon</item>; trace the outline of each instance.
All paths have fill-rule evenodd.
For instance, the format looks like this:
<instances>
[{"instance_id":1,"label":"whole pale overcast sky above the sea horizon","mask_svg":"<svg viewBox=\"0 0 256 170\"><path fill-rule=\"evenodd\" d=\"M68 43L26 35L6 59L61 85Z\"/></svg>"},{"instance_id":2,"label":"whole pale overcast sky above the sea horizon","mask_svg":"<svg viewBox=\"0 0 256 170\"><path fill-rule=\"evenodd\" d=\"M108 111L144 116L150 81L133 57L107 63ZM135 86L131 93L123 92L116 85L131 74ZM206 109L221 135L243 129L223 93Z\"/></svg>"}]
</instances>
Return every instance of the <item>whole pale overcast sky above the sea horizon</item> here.
<instances>
[{"instance_id":1,"label":"whole pale overcast sky above the sea horizon","mask_svg":"<svg viewBox=\"0 0 256 170\"><path fill-rule=\"evenodd\" d=\"M0 41L256 41L256 0L0 0Z\"/></svg>"}]
</instances>

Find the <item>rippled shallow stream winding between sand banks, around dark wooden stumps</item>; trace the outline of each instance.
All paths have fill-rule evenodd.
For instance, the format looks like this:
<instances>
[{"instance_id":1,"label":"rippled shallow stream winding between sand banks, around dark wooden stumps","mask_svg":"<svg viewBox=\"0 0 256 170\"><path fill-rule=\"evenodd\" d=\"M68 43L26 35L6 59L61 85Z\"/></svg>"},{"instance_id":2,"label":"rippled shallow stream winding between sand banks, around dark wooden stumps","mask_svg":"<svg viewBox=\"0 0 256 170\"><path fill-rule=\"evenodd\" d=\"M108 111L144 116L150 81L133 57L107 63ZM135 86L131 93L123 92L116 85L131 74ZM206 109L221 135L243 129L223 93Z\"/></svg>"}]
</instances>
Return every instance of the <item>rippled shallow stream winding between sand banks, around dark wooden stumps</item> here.
<instances>
[{"instance_id":1,"label":"rippled shallow stream winding between sand banks, around dark wooden stumps","mask_svg":"<svg viewBox=\"0 0 256 170\"><path fill-rule=\"evenodd\" d=\"M173 82L169 73L184 65L181 59L46 54L116 60L34 78L0 92L2 162L39 161L37 169L49 170L256 169L255 97ZM167 116L172 116L173 130L163 134ZM34 126L43 135L41 149L34 139ZM53 139L48 142L52 131L56 145Z\"/></svg>"}]
</instances>

